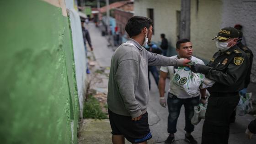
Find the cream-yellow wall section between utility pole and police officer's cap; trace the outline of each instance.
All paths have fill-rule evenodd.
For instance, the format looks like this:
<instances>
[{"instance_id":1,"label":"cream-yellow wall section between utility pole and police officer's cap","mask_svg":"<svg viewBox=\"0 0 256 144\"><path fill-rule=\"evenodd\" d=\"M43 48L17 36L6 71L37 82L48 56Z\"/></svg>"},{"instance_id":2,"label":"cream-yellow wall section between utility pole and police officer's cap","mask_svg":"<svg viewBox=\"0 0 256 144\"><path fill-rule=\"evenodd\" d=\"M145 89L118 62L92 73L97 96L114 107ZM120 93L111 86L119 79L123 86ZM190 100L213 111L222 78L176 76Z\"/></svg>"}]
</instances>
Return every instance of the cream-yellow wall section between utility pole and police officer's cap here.
<instances>
[{"instance_id":1,"label":"cream-yellow wall section between utility pole and police officer's cap","mask_svg":"<svg viewBox=\"0 0 256 144\"><path fill-rule=\"evenodd\" d=\"M221 28L221 0L191 0L190 37L193 54L209 61L218 51L213 37Z\"/></svg>"}]
</instances>

